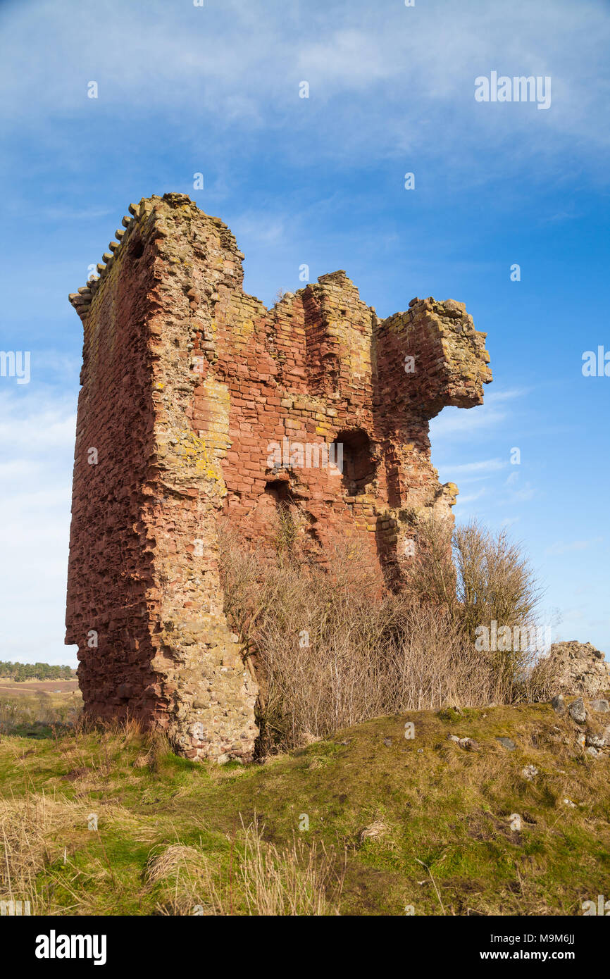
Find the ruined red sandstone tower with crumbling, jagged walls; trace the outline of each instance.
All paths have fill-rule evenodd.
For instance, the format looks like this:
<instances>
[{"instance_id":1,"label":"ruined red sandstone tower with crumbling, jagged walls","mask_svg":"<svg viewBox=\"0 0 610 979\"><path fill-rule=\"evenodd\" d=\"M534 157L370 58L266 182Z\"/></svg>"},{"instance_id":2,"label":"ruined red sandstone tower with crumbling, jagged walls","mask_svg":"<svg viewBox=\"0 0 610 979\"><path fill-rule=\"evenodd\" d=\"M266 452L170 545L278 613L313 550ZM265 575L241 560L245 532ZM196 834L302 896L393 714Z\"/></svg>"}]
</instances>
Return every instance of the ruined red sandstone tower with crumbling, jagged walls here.
<instances>
[{"instance_id":1,"label":"ruined red sandstone tower with crumbling, jagged walls","mask_svg":"<svg viewBox=\"0 0 610 979\"><path fill-rule=\"evenodd\" d=\"M218 218L180 194L129 210L70 296L84 347L66 641L90 715L248 760L257 683L222 612L218 522L264 541L295 511L305 546L356 536L398 580L418 520L455 501L429 421L482 403L485 334L452 300L380 320L344 271L268 310Z\"/></svg>"}]
</instances>

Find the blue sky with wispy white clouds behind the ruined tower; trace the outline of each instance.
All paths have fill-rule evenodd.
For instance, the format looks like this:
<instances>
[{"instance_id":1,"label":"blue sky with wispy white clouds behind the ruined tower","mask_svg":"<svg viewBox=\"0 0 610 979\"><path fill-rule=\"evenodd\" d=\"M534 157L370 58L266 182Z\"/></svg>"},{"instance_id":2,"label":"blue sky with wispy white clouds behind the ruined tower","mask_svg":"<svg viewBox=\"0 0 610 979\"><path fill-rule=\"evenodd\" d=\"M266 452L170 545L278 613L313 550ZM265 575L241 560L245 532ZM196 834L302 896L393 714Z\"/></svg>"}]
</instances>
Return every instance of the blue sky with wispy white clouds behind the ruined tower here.
<instances>
[{"instance_id":1,"label":"blue sky with wispy white clouds behind the ruined tower","mask_svg":"<svg viewBox=\"0 0 610 979\"><path fill-rule=\"evenodd\" d=\"M610 377L582 373L610 350L607 0L3 0L0 34L0 349L31 351L29 384L0 377L0 659L75 665L67 297L166 191L227 222L265 303L303 263L382 316L466 303L494 380L432 424L456 518L508 527L555 634L610 652ZM492 71L550 77L550 107L475 101Z\"/></svg>"}]
</instances>

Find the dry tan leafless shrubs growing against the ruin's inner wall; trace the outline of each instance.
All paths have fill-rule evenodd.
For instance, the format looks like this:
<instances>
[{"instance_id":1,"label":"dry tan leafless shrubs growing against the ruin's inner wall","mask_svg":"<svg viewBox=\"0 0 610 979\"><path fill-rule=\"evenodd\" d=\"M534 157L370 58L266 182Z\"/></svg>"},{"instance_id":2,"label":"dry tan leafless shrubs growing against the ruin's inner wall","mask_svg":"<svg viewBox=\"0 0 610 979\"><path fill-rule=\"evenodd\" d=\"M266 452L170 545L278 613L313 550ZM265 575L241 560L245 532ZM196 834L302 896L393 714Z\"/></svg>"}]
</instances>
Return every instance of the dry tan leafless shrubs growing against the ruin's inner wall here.
<instances>
[{"instance_id":1,"label":"dry tan leafless shrubs growing against the ruin's inner wall","mask_svg":"<svg viewBox=\"0 0 610 979\"><path fill-rule=\"evenodd\" d=\"M225 611L256 653L261 749L406 710L489 703L493 673L446 609L383 590L360 545L324 567L264 559L224 536Z\"/></svg>"}]
</instances>

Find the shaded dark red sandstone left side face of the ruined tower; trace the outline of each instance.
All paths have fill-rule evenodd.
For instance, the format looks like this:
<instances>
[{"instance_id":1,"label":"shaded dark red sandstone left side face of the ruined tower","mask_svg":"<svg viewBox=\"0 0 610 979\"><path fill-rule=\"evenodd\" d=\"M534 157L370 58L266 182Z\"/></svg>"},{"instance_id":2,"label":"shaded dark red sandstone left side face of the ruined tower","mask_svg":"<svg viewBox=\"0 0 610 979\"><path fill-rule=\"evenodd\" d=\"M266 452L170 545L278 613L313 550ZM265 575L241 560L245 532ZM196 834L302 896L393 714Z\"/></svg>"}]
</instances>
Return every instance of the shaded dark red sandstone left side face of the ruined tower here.
<instances>
[{"instance_id":1,"label":"shaded dark red sandstone left side face of the ruined tower","mask_svg":"<svg viewBox=\"0 0 610 979\"><path fill-rule=\"evenodd\" d=\"M116 713L127 694L141 713L153 680L147 599L154 576L142 520L154 425L150 281L149 268L123 256L95 316L83 321L66 641L79 647L85 703L102 716Z\"/></svg>"}]
</instances>

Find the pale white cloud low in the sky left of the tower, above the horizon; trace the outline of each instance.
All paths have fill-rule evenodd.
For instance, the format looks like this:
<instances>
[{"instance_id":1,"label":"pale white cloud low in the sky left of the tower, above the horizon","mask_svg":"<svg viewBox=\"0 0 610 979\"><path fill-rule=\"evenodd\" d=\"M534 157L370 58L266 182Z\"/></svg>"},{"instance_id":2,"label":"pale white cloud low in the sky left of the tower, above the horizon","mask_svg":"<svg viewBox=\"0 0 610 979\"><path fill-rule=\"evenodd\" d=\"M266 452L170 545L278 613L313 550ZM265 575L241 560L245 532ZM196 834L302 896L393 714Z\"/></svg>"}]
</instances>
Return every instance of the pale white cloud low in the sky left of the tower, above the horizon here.
<instances>
[{"instance_id":1,"label":"pale white cloud low in the sky left of the tower, above the horizon","mask_svg":"<svg viewBox=\"0 0 610 979\"><path fill-rule=\"evenodd\" d=\"M75 400L0 396L0 659L75 665L64 646Z\"/></svg>"}]
</instances>

